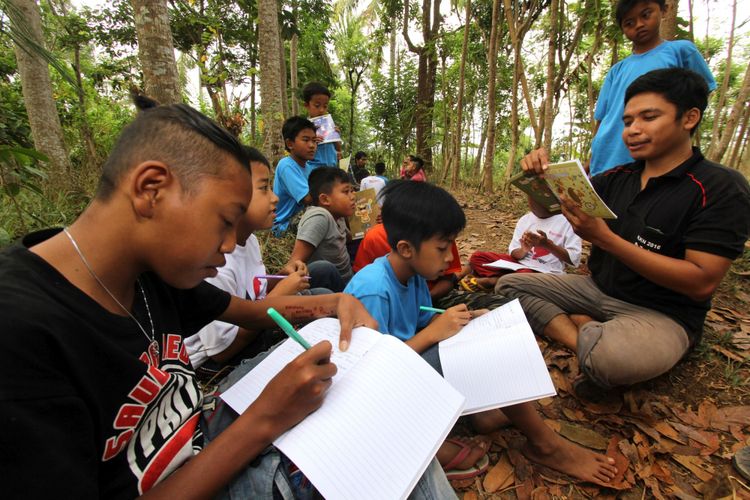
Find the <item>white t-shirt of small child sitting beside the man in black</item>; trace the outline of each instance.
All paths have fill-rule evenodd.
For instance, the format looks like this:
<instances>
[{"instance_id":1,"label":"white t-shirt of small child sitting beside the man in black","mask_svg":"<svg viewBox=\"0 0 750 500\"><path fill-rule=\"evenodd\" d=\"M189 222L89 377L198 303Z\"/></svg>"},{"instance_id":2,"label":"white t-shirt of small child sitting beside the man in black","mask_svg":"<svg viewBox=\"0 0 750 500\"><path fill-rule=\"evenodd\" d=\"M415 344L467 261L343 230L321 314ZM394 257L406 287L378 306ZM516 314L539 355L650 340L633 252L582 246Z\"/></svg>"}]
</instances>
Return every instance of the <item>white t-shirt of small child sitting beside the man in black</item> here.
<instances>
[{"instance_id":1,"label":"white t-shirt of small child sitting beside the man in black","mask_svg":"<svg viewBox=\"0 0 750 500\"><path fill-rule=\"evenodd\" d=\"M563 247L570 255L574 267L581 263L581 238L573 232L573 228L562 214L540 219L531 212L518 219L513 239L508 246L508 252L521 248L521 236L526 231L536 233L541 229L554 244ZM521 265L541 273L562 274L565 272L565 262L555 257L549 250L542 247L532 247L531 253L518 261Z\"/></svg>"}]
</instances>

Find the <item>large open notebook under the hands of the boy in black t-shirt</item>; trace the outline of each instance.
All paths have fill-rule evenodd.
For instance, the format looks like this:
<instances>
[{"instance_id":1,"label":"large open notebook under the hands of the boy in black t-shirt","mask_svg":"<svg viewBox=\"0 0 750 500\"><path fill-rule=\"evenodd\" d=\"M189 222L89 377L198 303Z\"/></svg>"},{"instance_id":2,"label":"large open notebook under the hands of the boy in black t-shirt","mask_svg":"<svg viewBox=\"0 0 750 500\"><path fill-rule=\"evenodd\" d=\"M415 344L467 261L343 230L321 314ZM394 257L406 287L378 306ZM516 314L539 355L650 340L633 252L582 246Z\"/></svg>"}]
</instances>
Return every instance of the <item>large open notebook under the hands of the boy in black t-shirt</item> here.
<instances>
[{"instance_id":1,"label":"large open notebook under the hands of the boy in black t-shirt","mask_svg":"<svg viewBox=\"0 0 750 500\"><path fill-rule=\"evenodd\" d=\"M331 341L338 373L323 405L274 444L325 498L406 498L458 420L464 397L390 335L356 328L342 353L336 319L299 333L313 345ZM222 398L242 413L301 352L287 340Z\"/></svg>"}]
</instances>

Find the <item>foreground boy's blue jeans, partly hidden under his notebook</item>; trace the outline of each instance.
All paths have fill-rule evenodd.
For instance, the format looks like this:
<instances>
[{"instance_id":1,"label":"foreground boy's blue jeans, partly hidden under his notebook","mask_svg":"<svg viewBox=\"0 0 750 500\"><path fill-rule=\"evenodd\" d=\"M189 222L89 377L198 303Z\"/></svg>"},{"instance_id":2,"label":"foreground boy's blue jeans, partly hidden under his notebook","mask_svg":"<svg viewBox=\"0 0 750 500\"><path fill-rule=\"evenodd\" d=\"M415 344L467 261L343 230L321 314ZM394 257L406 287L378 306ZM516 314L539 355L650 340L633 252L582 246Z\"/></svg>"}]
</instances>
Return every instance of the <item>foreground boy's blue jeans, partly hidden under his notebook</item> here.
<instances>
[{"instance_id":1,"label":"foreground boy's blue jeans, partly hidden under his notebook","mask_svg":"<svg viewBox=\"0 0 750 500\"><path fill-rule=\"evenodd\" d=\"M215 394L205 398L206 405L204 407L209 407L212 404L216 405L215 409L204 410L202 415L201 427L206 444L215 439L219 433L231 425L238 417L234 410L226 405L223 400L219 399L219 395L229 389L247 372L255 368L274 348L254 358L244 360L219 384L219 388ZM271 500L274 499L274 490L276 494L275 498L280 497L284 500L295 498L288 473L282 465L281 453L275 446L269 445L216 498ZM411 500L453 500L457 497L448 479L445 477L443 468L440 467L437 459L433 458L414 487L414 490L409 495L409 498Z\"/></svg>"}]
</instances>

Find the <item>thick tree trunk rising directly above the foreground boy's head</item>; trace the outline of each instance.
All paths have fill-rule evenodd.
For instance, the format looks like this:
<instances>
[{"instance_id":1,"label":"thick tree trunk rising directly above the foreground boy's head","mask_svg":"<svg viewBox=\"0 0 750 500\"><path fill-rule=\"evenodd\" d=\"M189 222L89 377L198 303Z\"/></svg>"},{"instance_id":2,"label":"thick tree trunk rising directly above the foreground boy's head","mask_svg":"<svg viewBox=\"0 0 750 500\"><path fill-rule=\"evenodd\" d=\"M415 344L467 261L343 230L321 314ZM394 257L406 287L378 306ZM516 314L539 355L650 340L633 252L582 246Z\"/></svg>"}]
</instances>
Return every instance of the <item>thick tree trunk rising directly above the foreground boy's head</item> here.
<instances>
[{"instance_id":1,"label":"thick tree trunk rising directly above the foreground boy's head","mask_svg":"<svg viewBox=\"0 0 750 500\"><path fill-rule=\"evenodd\" d=\"M182 102L166 0L131 0L146 94L162 104Z\"/></svg>"}]
</instances>

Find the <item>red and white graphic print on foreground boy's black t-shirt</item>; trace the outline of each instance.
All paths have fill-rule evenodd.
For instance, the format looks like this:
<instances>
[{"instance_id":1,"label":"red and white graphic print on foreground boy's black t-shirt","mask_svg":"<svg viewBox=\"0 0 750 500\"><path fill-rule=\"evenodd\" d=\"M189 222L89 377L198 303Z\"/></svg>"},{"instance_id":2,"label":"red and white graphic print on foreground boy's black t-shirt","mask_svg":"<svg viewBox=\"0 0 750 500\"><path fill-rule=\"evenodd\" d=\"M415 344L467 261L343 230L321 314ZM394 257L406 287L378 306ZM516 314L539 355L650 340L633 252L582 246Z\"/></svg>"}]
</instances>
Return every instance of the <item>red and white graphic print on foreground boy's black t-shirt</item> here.
<instances>
[{"instance_id":1,"label":"red and white graphic print on foreground boy's black t-shirt","mask_svg":"<svg viewBox=\"0 0 750 500\"><path fill-rule=\"evenodd\" d=\"M148 369L115 417L103 461L123 450L144 493L192 457L202 394L195 382L182 337L164 335L161 366L144 353Z\"/></svg>"}]
</instances>

